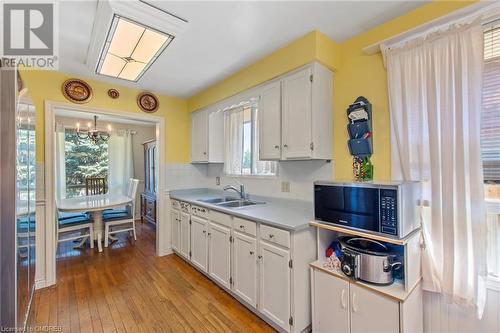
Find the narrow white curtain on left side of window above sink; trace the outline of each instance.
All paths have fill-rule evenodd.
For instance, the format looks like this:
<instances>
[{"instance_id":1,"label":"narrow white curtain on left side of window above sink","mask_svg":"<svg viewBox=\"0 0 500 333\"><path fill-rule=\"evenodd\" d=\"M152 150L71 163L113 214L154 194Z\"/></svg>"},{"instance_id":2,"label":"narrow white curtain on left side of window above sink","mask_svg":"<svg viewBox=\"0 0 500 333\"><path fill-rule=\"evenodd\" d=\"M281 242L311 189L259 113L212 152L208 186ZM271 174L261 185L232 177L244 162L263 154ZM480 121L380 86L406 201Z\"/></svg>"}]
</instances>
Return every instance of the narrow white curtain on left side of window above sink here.
<instances>
[{"instance_id":1,"label":"narrow white curtain on left side of window above sink","mask_svg":"<svg viewBox=\"0 0 500 333\"><path fill-rule=\"evenodd\" d=\"M228 175L242 173L243 156L243 107L224 112L224 172Z\"/></svg>"}]
</instances>

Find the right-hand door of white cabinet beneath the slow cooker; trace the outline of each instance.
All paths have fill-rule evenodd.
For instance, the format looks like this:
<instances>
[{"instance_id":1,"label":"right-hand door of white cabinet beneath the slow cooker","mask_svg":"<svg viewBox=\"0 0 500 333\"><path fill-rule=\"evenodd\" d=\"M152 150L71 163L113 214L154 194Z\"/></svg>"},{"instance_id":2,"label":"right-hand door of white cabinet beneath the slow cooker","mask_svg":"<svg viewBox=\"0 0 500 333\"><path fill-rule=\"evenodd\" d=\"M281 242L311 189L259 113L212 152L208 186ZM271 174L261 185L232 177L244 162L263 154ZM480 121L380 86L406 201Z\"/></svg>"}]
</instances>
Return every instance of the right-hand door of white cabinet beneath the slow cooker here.
<instances>
[{"instance_id":1,"label":"right-hand door of white cabinet beneath the slow cooker","mask_svg":"<svg viewBox=\"0 0 500 333\"><path fill-rule=\"evenodd\" d=\"M350 285L351 333L399 332L399 302Z\"/></svg>"}]
</instances>

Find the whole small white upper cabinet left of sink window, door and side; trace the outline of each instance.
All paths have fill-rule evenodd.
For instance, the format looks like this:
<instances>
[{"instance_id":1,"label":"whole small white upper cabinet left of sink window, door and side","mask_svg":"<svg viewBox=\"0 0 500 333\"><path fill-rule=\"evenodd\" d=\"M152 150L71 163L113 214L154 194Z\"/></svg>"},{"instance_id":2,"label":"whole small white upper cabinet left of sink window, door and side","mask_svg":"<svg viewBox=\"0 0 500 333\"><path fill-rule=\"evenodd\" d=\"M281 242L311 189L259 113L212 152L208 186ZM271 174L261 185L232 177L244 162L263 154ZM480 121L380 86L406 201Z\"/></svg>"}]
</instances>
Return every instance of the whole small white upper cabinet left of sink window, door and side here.
<instances>
[{"instance_id":1,"label":"whole small white upper cabinet left of sink window, door and side","mask_svg":"<svg viewBox=\"0 0 500 333\"><path fill-rule=\"evenodd\" d=\"M191 114L191 162L224 162L224 115L209 109Z\"/></svg>"}]
</instances>

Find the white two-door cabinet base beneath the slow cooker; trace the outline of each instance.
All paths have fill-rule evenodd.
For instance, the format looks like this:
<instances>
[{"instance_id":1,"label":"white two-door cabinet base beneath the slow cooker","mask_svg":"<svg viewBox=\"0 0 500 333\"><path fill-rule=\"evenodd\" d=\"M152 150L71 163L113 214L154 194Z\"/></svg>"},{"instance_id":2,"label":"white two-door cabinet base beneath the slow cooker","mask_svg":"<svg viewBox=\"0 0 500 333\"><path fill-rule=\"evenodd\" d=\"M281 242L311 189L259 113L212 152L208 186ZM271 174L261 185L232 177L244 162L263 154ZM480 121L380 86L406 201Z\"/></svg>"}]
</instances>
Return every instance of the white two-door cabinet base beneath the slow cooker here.
<instances>
[{"instance_id":1,"label":"white two-door cabinet base beneath the slow cooker","mask_svg":"<svg viewBox=\"0 0 500 333\"><path fill-rule=\"evenodd\" d=\"M422 332L422 292L391 296L311 268L312 330L350 333Z\"/></svg>"}]
</instances>

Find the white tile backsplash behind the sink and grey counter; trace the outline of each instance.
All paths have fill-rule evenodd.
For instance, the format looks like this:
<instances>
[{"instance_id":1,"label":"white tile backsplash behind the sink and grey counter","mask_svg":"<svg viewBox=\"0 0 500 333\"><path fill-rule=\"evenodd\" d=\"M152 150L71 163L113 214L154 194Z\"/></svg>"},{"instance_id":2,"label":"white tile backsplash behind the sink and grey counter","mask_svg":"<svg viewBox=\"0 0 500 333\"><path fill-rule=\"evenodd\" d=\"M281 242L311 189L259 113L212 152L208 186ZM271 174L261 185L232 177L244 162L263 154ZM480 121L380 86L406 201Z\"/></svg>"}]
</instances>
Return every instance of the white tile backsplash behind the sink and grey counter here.
<instances>
[{"instance_id":1,"label":"white tile backsplash behind the sink and grey counter","mask_svg":"<svg viewBox=\"0 0 500 333\"><path fill-rule=\"evenodd\" d=\"M222 164L177 164L166 165L167 189L186 189L209 187L222 189L225 185L241 182L249 194L313 200L313 182L315 180L331 180L333 163L326 161L287 161L279 162L276 177L234 177L224 175ZM216 185L216 177L221 178ZM290 192L282 192L281 183L290 183Z\"/></svg>"}]
</instances>

